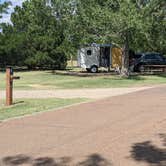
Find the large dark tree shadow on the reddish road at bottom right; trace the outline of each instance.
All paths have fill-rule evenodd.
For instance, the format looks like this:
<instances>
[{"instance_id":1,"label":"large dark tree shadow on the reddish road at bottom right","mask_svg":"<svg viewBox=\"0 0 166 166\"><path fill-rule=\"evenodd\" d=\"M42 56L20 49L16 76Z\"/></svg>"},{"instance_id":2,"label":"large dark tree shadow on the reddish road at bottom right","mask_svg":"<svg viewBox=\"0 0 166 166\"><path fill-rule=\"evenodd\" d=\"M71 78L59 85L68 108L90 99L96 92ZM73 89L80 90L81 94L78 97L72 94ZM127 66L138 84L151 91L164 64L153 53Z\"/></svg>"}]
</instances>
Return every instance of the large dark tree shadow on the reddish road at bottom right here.
<instances>
[{"instance_id":1,"label":"large dark tree shadow on the reddish road at bottom right","mask_svg":"<svg viewBox=\"0 0 166 166\"><path fill-rule=\"evenodd\" d=\"M160 134L163 146L166 146L166 134ZM136 143L132 146L131 157L138 162L153 166L166 166L166 149L159 148L151 141Z\"/></svg>"}]
</instances>

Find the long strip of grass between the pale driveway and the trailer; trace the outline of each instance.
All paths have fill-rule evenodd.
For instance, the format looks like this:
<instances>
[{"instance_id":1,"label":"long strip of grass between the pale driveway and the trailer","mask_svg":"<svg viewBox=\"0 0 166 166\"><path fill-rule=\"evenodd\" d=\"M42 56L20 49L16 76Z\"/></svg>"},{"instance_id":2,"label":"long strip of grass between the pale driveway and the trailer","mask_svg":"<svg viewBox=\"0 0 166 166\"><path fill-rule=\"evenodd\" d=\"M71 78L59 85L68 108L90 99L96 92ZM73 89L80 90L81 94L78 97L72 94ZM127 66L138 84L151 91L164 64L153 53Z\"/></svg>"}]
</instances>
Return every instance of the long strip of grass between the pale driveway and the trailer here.
<instances>
[{"instance_id":1,"label":"long strip of grass between the pale driveway and the trailer","mask_svg":"<svg viewBox=\"0 0 166 166\"><path fill-rule=\"evenodd\" d=\"M50 71L15 72L20 80L14 81L15 89L76 89L116 88L166 83L166 75L133 76L128 79L119 76L78 77L55 75ZM5 89L5 73L0 73L0 89Z\"/></svg>"}]
</instances>

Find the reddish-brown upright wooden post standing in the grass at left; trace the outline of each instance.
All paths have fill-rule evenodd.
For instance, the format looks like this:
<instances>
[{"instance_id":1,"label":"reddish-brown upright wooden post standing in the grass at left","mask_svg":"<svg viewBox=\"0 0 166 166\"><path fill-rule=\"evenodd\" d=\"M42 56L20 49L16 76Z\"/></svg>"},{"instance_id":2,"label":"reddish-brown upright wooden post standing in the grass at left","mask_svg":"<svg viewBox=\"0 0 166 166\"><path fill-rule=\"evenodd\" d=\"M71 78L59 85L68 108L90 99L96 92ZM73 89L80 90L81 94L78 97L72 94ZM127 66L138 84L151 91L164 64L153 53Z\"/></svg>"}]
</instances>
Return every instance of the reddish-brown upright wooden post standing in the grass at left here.
<instances>
[{"instance_id":1,"label":"reddish-brown upright wooden post standing in the grass at left","mask_svg":"<svg viewBox=\"0 0 166 166\"><path fill-rule=\"evenodd\" d=\"M11 67L6 68L6 106L13 103L13 71Z\"/></svg>"}]
</instances>

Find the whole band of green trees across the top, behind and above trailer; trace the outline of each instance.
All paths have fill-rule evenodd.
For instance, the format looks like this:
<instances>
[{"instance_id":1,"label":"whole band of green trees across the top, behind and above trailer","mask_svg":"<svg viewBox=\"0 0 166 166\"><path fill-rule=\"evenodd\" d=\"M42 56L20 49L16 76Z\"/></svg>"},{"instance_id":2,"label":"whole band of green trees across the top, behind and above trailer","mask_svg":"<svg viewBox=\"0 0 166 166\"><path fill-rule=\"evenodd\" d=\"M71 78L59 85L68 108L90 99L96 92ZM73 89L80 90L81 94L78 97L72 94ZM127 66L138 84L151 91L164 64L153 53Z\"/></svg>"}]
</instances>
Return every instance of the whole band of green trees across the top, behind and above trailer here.
<instances>
[{"instance_id":1,"label":"whole band of green trees across the top, behind and above trailer","mask_svg":"<svg viewBox=\"0 0 166 166\"><path fill-rule=\"evenodd\" d=\"M87 43L122 47L124 71L130 49L166 54L165 0L27 0L11 22L1 24L1 66L64 69Z\"/></svg>"}]
</instances>

